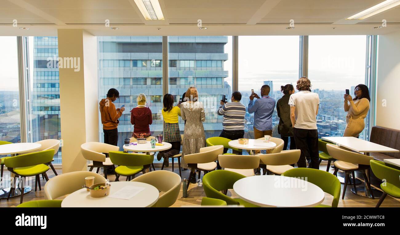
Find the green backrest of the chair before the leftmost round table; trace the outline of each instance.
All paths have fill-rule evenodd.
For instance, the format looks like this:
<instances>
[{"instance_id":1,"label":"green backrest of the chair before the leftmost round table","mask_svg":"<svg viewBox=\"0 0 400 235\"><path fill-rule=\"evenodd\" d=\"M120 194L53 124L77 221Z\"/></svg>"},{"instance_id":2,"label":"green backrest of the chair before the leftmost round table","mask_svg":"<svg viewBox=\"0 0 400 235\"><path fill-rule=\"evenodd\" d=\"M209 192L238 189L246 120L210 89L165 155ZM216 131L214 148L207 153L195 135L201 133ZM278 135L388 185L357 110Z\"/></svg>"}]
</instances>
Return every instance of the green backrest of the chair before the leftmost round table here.
<instances>
[{"instance_id":1,"label":"green backrest of the chair before the leftmost round table","mask_svg":"<svg viewBox=\"0 0 400 235\"><path fill-rule=\"evenodd\" d=\"M51 160L53 160L53 156L54 149L49 149L7 158L6 160L4 160L4 164L10 168L36 166L39 164L51 162Z\"/></svg>"}]
</instances>

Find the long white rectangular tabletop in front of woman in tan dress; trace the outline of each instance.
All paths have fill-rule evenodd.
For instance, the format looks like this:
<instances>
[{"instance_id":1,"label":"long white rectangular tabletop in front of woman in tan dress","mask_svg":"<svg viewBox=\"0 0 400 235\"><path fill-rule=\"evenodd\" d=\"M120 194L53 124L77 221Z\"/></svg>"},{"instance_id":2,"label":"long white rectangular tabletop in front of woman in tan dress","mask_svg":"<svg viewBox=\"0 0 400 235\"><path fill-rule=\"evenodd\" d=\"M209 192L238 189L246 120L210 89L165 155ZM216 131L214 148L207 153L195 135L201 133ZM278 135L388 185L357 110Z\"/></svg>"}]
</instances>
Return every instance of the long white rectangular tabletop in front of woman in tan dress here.
<instances>
[{"instance_id":1,"label":"long white rectangular tabletop in front of woman in tan dress","mask_svg":"<svg viewBox=\"0 0 400 235\"><path fill-rule=\"evenodd\" d=\"M397 149L375 144L356 137L322 137L322 140L328 140L356 152L399 152Z\"/></svg>"}]
</instances>

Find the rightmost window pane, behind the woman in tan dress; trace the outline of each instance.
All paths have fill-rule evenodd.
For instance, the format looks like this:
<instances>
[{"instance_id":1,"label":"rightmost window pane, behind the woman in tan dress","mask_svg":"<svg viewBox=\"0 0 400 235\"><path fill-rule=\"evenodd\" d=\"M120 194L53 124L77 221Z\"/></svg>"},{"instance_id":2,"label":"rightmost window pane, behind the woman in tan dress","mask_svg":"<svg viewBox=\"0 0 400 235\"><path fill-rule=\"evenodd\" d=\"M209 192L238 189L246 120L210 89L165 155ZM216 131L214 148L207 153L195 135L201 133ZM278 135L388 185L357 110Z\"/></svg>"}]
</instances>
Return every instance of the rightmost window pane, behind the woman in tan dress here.
<instances>
[{"instance_id":1,"label":"rightmost window pane, behind the woman in tan dress","mask_svg":"<svg viewBox=\"0 0 400 235\"><path fill-rule=\"evenodd\" d=\"M320 97L318 136L343 136L346 128L343 95L365 83L366 36L309 36L308 78ZM360 138L365 138L365 130Z\"/></svg>"}]
</instances>

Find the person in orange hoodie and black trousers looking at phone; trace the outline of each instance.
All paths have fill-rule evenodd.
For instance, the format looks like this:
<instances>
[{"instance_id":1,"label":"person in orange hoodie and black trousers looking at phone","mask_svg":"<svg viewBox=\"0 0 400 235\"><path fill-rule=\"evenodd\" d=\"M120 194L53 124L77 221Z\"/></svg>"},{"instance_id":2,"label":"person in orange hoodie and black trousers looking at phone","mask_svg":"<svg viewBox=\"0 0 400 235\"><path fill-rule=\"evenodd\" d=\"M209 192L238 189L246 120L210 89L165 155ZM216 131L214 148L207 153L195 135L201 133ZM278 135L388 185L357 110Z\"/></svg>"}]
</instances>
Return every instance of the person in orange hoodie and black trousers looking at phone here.
<instances>
[{"instance_id":1,"label":"person in orange hoodie and black trousers looking at phone","mask_svg":"<svg viewBox=\"0 0 400 235\"><path fill-rule=\"evenodd\" d=\"M120 97L115 88L108 90L107 98L102 99L100 105L101 123L103 124L104 143L118 146L118 118L125 108L115 109L114 101Z\"/></svg>"}]
</instances>

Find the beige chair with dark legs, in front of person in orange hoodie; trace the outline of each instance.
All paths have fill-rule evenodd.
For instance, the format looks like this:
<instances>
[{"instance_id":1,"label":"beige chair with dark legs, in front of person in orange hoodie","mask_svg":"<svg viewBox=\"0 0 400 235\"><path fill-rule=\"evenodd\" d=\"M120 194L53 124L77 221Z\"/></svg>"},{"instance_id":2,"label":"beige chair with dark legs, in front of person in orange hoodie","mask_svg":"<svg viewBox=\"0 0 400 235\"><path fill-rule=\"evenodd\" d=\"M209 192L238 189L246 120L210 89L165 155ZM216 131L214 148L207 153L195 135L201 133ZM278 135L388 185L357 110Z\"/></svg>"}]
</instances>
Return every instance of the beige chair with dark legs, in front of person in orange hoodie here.
<instances>
[{"instance_id":1,"label":"beige chair with dark legs, in front of person in orange hoodie","mask_svg":"<svg viewBox=\"0 0 400 235\"><path fill-rule=\"evenodd\" d=\"M107 167L112 167L115 170L114 164L110 158L106 158L106 154L110 151L119 151L120 147L111 144L104 144L100 142L87 142L80 146L83 157L86 160L92 161L88 164L90 167L89 171L92 171L94 167L97 167L97 172L100 168L104 169L104 177L107 179Z\"/></svg>"}]
</instances>

